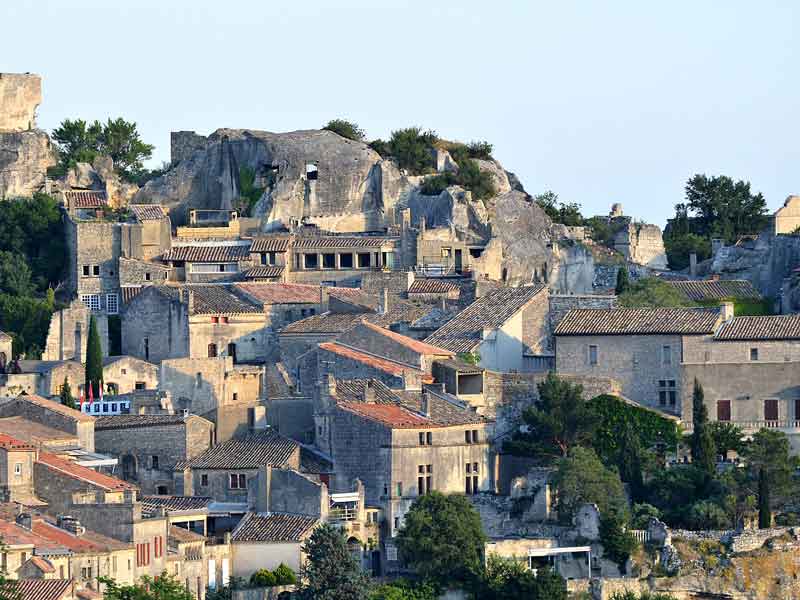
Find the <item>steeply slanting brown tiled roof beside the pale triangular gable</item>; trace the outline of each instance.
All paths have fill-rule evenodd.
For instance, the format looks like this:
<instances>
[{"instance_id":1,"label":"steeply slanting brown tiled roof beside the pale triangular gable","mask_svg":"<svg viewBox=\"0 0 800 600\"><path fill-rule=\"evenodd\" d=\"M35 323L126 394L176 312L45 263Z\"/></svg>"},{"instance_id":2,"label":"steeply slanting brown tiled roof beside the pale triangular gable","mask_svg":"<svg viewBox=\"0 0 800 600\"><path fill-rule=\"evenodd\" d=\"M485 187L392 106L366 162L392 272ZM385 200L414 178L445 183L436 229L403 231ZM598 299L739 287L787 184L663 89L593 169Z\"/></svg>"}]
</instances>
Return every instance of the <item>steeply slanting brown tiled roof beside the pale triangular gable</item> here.
<instances>
[{"instance_id":1,"label":"steeply slanting brown tiled roof beside the pale triangular gable","mask_svg":"<svg viewBox=\"0 0 800 600\"><path fill-rule=\"evenodd\" d=\"M543 285L493 289L475 300L425 341L456 353L471 352L480 344L484 329L500 327L544 289Z\"/></svg>"}]
</instances>

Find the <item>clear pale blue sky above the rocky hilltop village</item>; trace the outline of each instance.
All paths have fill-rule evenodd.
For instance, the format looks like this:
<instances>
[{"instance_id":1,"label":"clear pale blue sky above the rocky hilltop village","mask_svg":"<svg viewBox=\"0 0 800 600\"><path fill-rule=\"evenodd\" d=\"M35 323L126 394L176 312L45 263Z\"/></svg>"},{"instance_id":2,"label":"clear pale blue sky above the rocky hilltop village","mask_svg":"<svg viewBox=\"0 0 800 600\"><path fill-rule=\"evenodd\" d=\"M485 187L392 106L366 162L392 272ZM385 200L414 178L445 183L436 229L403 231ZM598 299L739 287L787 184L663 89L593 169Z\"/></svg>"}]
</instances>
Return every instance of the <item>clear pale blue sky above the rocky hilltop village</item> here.
<instances>
[{"instance_id":1,"label":"clear pale blue sky above the rocky hilltop village","mask_svg":"<svg viewBox=\"0 0 800 600\"><path fill-rule=\"evenodd\" d=\"M659 225L695 172L800 192L800 4L0 2L0 71L44 78L39 124L486 139L530 193Z\"/></svg>"}]
</instances>

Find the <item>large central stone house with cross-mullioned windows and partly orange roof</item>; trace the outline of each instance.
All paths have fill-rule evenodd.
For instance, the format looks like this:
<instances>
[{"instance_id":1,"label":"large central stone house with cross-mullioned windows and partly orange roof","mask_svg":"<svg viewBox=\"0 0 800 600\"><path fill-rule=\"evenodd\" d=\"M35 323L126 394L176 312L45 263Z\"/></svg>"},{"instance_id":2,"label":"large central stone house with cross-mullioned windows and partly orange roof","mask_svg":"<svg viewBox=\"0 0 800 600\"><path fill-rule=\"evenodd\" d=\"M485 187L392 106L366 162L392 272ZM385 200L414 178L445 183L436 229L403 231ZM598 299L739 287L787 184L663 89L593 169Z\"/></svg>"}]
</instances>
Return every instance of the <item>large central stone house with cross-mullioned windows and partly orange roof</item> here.
<instances>
[{"instance_id":1,"label":"large central stone house with cross-mullioned windows and partly orange roof","mask_svg":"<svg viewBox=\"0 0 800 600\"><path fill-rule=\"evenodd\" d=\"M495 489L493 424L441 390L403 392L329 376L315 421L317 446L333 459L333 487L360 479L390 536L419 496Z\"/></svg>"}]
</instances>

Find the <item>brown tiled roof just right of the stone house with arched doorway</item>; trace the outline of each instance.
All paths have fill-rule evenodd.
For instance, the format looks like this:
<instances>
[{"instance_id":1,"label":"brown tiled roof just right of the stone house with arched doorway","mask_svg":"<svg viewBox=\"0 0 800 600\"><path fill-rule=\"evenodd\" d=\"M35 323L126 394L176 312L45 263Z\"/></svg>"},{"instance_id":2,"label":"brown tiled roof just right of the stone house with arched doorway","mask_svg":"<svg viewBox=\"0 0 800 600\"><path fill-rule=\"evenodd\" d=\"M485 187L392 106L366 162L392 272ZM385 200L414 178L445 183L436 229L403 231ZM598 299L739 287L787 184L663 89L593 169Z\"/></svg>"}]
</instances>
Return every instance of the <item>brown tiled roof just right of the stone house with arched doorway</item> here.
<instances>
[{"instance_id":1,"label":"brown tiled roof just right of the stone house with arched doorway","mask_svg":"<svg viewBox=\"0 0 800 600\"><path fill-rule=\"evenodd\" d=\"M257 469L261 465L283 466L289 463L299 446L274 430L266 429L209 448L200 456L179 463L176 468Z\"/></svg>"}]
</instances>

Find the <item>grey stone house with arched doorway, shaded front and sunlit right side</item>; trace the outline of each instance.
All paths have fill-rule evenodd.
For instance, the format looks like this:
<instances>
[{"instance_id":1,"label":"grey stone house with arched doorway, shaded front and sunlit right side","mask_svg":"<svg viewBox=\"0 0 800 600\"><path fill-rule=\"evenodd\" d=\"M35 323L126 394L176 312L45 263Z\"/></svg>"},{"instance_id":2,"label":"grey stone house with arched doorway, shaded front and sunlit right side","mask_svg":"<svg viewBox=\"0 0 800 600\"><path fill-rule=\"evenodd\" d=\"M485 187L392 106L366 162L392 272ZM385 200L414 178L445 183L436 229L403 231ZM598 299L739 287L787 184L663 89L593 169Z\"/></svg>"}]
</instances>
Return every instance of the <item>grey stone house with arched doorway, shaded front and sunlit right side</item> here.
<instances>
[{"instance_id":1,"label":"grey stone house with arched doorway, shaded front and sunlit right side","mask_svg":"<svg viewBox=\"0 0 800 600\"><path fill-rule=\"evenodd\" d=\"M145 494L171 494L175 465L214 443L214 424L197 415L119 415L97 417L98 451L119 460L119 476Z\"/></svg>"}]
</instances>

